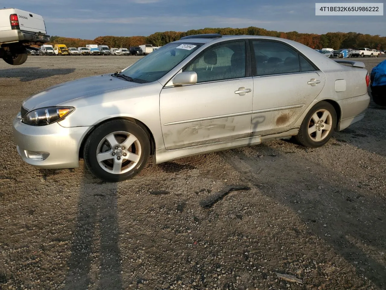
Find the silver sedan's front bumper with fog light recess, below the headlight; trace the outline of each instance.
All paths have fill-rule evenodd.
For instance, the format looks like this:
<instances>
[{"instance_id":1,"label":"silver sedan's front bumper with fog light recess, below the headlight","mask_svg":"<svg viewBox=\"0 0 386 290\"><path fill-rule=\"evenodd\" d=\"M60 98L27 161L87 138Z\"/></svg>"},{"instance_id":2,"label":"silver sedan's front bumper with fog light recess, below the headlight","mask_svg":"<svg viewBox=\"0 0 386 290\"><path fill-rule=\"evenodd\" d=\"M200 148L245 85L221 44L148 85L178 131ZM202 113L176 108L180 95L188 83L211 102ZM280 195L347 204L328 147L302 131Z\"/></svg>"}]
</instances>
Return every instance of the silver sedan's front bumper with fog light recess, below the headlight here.
<instances>
[{"instance_id":1,"label":"silver sedan's front bumper with fog light recess, below the headlight","mask_svg":"<svg viewBox=\"0 0 386 290\"><path fill-rule=\"evenodd\" d=\"M13 121L12 131L17 152L24 162L46 169L79 167L79 150L83 138L92 127L64 128L58 123L30 126L21 122L20 113ZM43 161L27 157L27 152L47 152Z\"/></svg>"}]
</instances>

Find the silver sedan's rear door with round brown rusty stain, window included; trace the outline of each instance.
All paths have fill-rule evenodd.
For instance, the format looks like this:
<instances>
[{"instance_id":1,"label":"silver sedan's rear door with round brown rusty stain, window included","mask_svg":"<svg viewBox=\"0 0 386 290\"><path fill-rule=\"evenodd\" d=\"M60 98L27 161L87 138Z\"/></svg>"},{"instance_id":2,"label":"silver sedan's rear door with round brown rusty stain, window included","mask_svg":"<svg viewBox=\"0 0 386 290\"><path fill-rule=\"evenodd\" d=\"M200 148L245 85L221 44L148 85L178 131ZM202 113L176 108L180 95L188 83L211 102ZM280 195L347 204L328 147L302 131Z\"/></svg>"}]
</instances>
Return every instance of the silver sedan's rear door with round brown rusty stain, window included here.
<instances>
[{"instance_id":1,"label":"silver sedan's rear door with round brown rusty stain, window included","mask_svg":"<svg viewBox=\"0 0 386 290\"><path fill-rule=\"evenodd\" d=\"M322 91L325 74L279 41L251 41L255 58L252 135L292 128Z\"/></svg>"}]
</instances>

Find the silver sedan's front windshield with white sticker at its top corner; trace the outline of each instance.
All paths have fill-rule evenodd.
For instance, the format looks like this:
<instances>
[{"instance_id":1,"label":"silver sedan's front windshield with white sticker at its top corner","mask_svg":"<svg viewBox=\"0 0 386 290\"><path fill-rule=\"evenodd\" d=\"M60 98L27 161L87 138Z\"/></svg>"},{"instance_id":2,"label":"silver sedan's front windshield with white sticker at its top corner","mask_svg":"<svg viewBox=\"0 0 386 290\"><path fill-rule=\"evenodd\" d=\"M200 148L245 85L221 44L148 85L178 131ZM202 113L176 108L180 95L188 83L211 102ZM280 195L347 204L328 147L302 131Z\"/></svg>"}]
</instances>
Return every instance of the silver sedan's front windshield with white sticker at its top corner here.
<instances>
[{"instance_id":1,"label":"silver sedan's front windshield with white sticker at its top corner","mask_svg":"<svg viewBox=\"0 0 386 290\"><path fill-rule=\"evenodd\" d=\"M169 43L157 51L136 61L121 74L132 78L132 82L149 83L158 80L178 65L202 44Z\"/></svg>"}]
</instances>

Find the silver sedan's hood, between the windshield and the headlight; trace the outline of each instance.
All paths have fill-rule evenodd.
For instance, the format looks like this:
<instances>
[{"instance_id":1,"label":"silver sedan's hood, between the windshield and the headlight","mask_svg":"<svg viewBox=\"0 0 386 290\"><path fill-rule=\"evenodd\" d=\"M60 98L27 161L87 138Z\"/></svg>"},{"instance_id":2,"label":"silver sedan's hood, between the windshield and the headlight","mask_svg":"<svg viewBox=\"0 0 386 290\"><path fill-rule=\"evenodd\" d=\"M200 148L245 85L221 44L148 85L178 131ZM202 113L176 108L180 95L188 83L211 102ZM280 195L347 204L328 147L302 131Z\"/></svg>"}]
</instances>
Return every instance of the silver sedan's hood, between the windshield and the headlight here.
<instances>
[{"instance_id":1,"label":"silver sedan's hood, between the windshield and the headlight","mask_svg":"<svg viewBox=\"0 0 386 290\"><path fill-rule=\"evenodd\" d=\"M57 106L80 97L90 96L106 92L108 90L122 89L138 85L137 83L112 77L111 75L99 75L96 77L81 78L49 87L36 95L30 96L22 106L27 110L41 107Z\"/></svg>"}]
</instances>

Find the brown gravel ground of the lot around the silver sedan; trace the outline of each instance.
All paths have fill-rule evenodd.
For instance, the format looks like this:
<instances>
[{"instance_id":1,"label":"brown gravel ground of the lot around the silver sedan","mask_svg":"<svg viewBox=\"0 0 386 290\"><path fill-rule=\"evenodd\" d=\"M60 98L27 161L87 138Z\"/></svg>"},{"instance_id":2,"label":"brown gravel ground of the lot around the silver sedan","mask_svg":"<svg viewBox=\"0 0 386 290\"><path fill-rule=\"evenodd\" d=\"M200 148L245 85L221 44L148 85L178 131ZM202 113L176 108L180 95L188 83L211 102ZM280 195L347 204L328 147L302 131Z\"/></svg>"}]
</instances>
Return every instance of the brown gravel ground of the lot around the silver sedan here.
<instances>
[{"instance_id":1,"label":"brown gravel ground of the lot around the silver sedan","mask_svg":"<svg viewBox=\"0 0 386 290\"><path fill-rule=\"evenodd\" d=\"M148 164L119 184L83 161L22 162L11 124L23 99L138 58L0 61L0 289L386 289L386 110L372 102L323 148L279 140ZM384 59L361 61L370 72ZM244 189L210 206L230 186Z\"/></svg>"}]
</instances>

